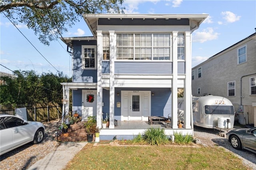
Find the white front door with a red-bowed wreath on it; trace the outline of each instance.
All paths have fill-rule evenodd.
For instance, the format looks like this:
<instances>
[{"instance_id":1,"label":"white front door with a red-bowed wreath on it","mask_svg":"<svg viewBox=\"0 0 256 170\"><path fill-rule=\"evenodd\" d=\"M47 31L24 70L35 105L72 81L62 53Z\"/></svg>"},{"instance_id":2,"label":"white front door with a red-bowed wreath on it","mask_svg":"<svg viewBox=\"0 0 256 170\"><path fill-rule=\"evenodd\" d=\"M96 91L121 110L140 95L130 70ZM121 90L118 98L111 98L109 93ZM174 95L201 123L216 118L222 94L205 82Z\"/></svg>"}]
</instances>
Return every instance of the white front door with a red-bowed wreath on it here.
<instances>
[{"instance_id":1,"label":"white front door with a red-bowed wreath on it","mask_svg":"<svg viewBox=\"0 0 256 170\"><path fill-rule=\"evenodd\" d=\"M96 90L82 90L82 121L88 116L97 116Z\"/></svg>"}]
</instances>

